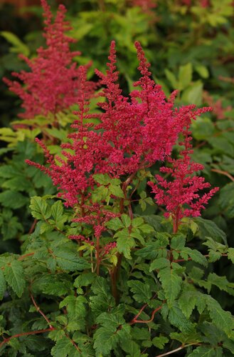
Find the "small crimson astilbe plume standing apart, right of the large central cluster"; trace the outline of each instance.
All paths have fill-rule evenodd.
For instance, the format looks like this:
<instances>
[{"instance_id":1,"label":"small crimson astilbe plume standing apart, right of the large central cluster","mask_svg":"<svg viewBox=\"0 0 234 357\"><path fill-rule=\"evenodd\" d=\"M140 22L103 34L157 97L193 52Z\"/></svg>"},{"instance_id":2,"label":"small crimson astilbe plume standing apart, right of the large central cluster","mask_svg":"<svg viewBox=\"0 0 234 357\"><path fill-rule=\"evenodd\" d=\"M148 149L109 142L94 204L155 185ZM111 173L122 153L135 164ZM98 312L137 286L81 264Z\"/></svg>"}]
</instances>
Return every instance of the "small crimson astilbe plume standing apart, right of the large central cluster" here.
<instances>
[{"instance_id":1,"label":"small crimson astilbe plume standing apart, right of the large central cluster","mask_svg":"<svg viewBox=\"0 0 234 357\"><path fill-rule=\"evenodd\" d=\"M211 108L198 109L197 114L211 110ZM194 113L193 113L194 114ZM165 216L171 216L174 221L174 233L178 231L181 219L189 216L201 216L201 209L208 200L218 191L218 187L212 188L208 193L200 193L211 185L205 182L205 178L194 176L197 171L203 170L203 165L191 161L193 153L191 145L191 117L187 116L182 134L184 139L179 141L181 150L179 159L167 159L171 167L163 166L160 171L171 176L171 181L156 175L157 183L149 182L152 192L155 193L156 203L166 206ZM194 119L194 118L193 118Z\"/></svg>"}]
</instances>

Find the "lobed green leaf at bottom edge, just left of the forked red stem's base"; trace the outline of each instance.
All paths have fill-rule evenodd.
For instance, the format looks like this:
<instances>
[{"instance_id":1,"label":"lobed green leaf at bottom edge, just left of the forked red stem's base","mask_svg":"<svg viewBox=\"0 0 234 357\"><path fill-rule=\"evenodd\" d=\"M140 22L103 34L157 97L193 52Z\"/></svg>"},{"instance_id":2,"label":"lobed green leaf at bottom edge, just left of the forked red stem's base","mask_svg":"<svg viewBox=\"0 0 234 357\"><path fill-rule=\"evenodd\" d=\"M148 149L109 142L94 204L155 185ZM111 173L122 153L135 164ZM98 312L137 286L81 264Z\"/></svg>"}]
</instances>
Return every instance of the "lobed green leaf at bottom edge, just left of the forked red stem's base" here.
<instances>
[{"instance_id":1,"label":"lobed green leaf at bottom edge, just left of the forked red stem's base","mask_svg":"<svg viewBox=\"0 0 234 357\"><path fill-rule=\"evenodd\" d=\"M124 321L121 313L101 313L97 319L101 327L94 333L94 348L104 356L110 356L110 351L130 339L131 327Z\"/></svg>"}]
</instances>

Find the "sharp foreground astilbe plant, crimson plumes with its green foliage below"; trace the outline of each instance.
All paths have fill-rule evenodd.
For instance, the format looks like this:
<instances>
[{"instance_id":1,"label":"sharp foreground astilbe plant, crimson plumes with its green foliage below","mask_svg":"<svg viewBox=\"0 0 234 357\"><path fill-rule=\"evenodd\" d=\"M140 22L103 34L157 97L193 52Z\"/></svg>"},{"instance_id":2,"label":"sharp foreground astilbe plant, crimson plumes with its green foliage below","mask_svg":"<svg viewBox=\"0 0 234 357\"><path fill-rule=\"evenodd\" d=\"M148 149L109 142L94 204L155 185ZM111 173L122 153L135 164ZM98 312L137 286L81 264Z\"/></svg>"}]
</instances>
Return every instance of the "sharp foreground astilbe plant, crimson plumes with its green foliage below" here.
<instances>
[{"instance_id":1,"label":"sharp foreground astilbe plant, crimson plumes with its green foliage below","mask_svg":"<svg viewBox=\"0 0 234 357\"><path fill-rule=\"evenodd\" d=\"M36 228L23 254L1 256L0 296L7 282L12 301L3 306L0 351L44 351L55 357L162 357L184 348L191 357L233 351L233 317L208 294L217 281L230 293L233 286L214 273L202 278L204 271L197 266L206 268L208 259L220 256L233 261L233 250L208 238L209 252L203 255L185 246L190 226L186 233L178 230L181 219L198 216L216 191L198 197L198 188L209 184L193 176L201 166L190 158L191 121L210 109L174 108L176 92L166 100L151 79L142 47L136 47L141 76L129 96L117 83L112 42L106 73L96 71L104 86L101 110L89 110L87 69L81 67L77 119L62 154L53 156L36 139L46 164L27 163L52 178L58 195L31 199ZM171 159L178 139L184 149L179 159ZM172 180L156 176L165 191L154 183L151 187L167 216L173 216L174 232L161 216L137 216L132 210L137 188L152 178L149 168L162 161L171 165L161 171ZM14 308L26 311L16 323L11 312L15 294L20 299ZM37 334L41 337L33 339Z\"/></svg>"}]
</instances>

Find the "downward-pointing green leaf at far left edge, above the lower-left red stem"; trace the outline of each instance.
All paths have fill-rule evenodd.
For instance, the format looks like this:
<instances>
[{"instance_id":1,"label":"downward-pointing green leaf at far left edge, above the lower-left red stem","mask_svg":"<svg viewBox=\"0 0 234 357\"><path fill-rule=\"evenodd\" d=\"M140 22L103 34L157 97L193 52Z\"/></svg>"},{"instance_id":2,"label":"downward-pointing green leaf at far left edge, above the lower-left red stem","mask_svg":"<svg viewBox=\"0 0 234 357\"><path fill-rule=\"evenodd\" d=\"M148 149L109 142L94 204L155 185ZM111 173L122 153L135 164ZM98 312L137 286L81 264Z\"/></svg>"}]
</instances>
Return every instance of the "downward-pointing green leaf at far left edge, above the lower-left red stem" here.
<instances>
[{"instance_id":1,"label":"downward-pointing green leaf at far left edge, above the lower-left red stem","mask_svg":"<svg viewBox=\"0 0 234 357\"><path fill-rule=\"evenodd\" d=\"M11 261L11 264L7 264L4 269L4 275L9 286L13 288L16 295L20 298L26 286L21 261Z\"/></svg>"}]
</instances>

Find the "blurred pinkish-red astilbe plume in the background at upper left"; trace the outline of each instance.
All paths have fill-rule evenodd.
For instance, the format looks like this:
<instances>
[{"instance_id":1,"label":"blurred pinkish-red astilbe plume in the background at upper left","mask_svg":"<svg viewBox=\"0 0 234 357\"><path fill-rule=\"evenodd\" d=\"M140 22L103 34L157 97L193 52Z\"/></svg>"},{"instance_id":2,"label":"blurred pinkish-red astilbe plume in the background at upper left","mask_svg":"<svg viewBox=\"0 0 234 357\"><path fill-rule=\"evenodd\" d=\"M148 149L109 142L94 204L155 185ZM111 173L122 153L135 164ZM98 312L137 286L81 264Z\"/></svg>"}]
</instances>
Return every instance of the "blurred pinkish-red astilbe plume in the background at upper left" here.
<instances>
[{"instance_id":1,"label":"blurred pinkish-red astilbe plume in the background at upper left","mask_svg":"<svg viewBox=\"0 0 234 357\"><path fill-rule=\"evenodd\" d=\"M70 29L68 21L65 21L65 6L59 6L53 21L46 0L41 0L41 4L47 47L38 49L34 59L21 55L31 71L14 72L19 81L4 79L9 89L23 101L24 112L19 114L23 119L33 119L38 114L47 115L49 112L55 115L68 109L76 103L80 87L80 69L73 62L74 56L80 52L70 51L70 43L75 40L65 35L65 31Z\"/></svg>"}]
</instances>

